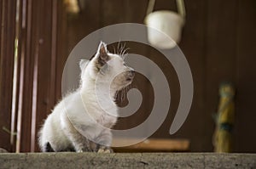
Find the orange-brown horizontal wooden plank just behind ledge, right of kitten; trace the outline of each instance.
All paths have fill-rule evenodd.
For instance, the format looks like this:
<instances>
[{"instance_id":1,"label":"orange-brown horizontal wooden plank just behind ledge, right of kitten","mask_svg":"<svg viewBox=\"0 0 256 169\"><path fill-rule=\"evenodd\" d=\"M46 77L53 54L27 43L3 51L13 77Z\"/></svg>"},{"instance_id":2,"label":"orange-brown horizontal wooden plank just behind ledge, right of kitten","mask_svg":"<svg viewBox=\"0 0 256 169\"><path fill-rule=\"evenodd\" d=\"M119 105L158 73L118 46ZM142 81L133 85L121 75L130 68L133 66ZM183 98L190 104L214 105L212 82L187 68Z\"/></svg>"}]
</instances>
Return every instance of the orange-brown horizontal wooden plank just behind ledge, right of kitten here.
<instances>
[{"instance_id":1,"label":"orange-brown horizontal wooden plank just behind ledge, right of kitten","mask_svg":"<svg viewBox=\"0 0 256 169\"><path fill-rule=\"evenodd\" d=\"M132 138L116 138L113 144L127 143L127 141L136 141ZM114 152L173 152L189 151L189 140L186 139L161 139L148 138L139 144L127 147L113 148Z\"/></svg>"}]
</instances>

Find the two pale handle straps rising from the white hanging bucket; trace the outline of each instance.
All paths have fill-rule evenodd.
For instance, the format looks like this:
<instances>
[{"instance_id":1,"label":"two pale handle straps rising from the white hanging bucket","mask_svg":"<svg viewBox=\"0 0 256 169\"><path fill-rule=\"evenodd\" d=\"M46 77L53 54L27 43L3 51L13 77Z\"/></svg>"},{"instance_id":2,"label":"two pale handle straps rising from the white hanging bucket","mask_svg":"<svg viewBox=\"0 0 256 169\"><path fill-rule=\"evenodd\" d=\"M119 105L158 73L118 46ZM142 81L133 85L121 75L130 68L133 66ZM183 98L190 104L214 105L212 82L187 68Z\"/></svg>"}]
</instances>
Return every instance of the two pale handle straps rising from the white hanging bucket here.
<instances>
[{"instance_id":1,"label":"two pale handle straps rising from the white hanging bucket","mask_svg":"<svg viewBox=\"0 0 256 169\"><path fill-rule=\"evenodd\" d=\"M147 15L153 12L154 3L155 3L155 0L149 0L148 1ZM184 1L183 0L176 0L176 4L177 4L177 13L180 14L183 18L185 18L186 10L185 10Z\"/></svg>"}]
</instances>

